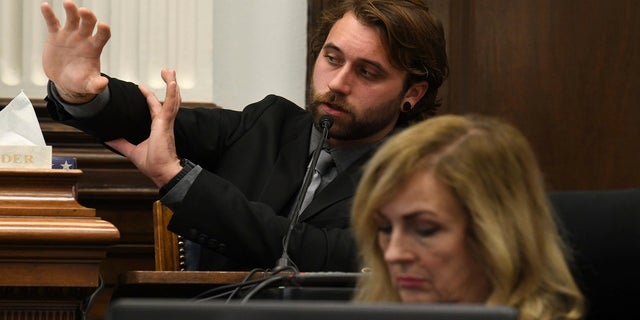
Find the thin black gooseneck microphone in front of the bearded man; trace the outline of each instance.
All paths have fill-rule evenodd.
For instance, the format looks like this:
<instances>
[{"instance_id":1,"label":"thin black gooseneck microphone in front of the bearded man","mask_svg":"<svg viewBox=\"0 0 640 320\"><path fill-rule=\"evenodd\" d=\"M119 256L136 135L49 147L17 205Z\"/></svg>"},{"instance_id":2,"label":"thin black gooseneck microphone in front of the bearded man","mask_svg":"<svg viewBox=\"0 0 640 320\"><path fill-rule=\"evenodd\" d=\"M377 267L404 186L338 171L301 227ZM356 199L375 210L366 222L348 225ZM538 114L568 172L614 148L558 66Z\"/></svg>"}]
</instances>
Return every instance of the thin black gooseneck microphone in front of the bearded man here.
<instances>
[{"instance_id":1,"label":"thin black gooseneck microphone in front of the bearded man","mask_svg":"<svg viewBox=\"0 0 640 320\"><path fill-rule=\"evenodd\" d=\"M316 149L313 151L313 156L311 157L311 164L307 167L307 171L304 174L304 180L302 181L302 186L300 186L300 190L298 191L298 196L296 197L296 202L293 207L293 212L289 216L289 228L287 229L287 233L282 240L282 256L276 261L276 267L274 268L274 272L279 272L285 268L293 268L296 272L297 268L291 266L291 260L289 259L289 238L291 238L291 233L293 232L293 228L296 223L298 223L298 216L300 215L300 208L302 207L302 201L304 200L304 195L309 188L309 184L311 183L311 177L313 177L313 172L316 168L316 163L318 162L318 157L320 156L320 151L322 150L322 146L327 141L329 137L329 129L333 125L333 117L329 115L323 115L318 120L318 127L322 130L322 139L320 143L316 146Z\"/></svg>"}]
</instances>

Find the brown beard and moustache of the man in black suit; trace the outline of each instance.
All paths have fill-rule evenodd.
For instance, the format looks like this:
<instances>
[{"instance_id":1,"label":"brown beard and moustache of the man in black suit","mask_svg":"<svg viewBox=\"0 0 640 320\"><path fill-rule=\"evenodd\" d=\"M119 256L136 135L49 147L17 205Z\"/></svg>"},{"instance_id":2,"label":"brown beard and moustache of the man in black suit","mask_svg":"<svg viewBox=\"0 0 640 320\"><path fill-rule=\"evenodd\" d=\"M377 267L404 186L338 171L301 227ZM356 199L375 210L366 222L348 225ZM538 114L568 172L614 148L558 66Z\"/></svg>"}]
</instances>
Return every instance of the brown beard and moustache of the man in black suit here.
<instances>
[{"instance_id":1,"label":"brown beard and moustache of the man in black suit","mask_svg":"<svg viewBox=\"0 0 640 320\"><path fill-rule=\"evenodd\" d=\"M344 97L333 92L315 94L312 90L312 99L307 110L311 112L314 125L318 126L318 120L324 115L320 111L320 105L329 104L333 109L342 111L344 116L334 118L330 129L330 136L337 140L358 140L372 136L387 128L391 122L397 121L402 96L398 96L386 103L380 103L368 107L366 113L357 114L358 108L348 103ZM362 108L360 108L362 109Z\"/></svg>"}]
</instances>

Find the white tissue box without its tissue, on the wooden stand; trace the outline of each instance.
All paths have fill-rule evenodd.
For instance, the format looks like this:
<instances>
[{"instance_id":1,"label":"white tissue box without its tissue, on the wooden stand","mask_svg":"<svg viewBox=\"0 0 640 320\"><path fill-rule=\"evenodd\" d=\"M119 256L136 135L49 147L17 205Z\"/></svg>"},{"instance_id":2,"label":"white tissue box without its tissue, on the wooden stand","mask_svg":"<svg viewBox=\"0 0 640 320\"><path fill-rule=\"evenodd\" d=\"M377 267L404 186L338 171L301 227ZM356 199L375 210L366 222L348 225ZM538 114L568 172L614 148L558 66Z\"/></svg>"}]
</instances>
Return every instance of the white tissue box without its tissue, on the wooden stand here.
<instances>
[{"instance_id":1,"label":"white tissue box without its tissue, on the wooden stand","mask_svg":"<svg viewBox=\"0 0 640 320\"><path fill-rule=\"evenodd\" d=\"M51 146L0 145L0 168L51 169Z\"/></svg>"}]
</instances>

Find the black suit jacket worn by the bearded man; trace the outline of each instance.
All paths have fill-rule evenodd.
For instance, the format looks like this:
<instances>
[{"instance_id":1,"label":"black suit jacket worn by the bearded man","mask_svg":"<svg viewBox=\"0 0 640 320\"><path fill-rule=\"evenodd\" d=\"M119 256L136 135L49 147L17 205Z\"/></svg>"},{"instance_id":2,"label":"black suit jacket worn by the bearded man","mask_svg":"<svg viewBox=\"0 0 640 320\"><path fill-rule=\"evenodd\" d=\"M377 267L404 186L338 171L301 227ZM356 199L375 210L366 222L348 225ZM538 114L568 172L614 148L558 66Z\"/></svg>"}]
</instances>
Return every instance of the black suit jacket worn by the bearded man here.
<instances>
[{"instance_id":1,"label":"black suit jacket worn by the bearded man","mask_svg":"<svg viewBox=\"0 0 640 320\"><path fill-rule=\"evenodd\" d=\"M53 99L51 116L102 141L139 143L151 123L135 84L110 79L111 100L100 114L74 119ZM203 246L200 269L272 268L281 256L292 203L309 161L310 114L267 96L242 112L180 109L178 155L205 170L174 209L169 229ZM289 257L301 271L355 271L349 229L351 200L370 154L339 174L301 213Z\"/></svg>"}]
</instances>

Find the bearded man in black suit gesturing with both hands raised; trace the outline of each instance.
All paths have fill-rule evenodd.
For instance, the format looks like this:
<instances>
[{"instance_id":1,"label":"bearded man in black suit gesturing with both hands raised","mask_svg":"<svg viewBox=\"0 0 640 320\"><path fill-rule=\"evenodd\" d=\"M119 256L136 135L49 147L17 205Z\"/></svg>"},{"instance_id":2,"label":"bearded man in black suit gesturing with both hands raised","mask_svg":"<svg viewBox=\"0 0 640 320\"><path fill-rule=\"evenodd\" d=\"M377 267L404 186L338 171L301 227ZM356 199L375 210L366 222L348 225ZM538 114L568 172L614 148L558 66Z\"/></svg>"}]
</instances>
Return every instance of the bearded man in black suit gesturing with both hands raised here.
<instances>
[{"instance_id":1,"label":"bearded man in black suit gesturing with both hands raised","mask_svg":"<svg viewBox=\"0 0 640 320\"><path fill-rule=\"evenodd\" d=\"M300 271L357 268L349 216L361 166L385 137L435 113L448 72L442 25L422 0L341 2L311 47L307 110L269 95L241 112L179 109L173 70L162 70L164 104L144 86L101 74L108 25L93 34L91 11L69 0L64 8L62 27L47 3L41 7L48 110L160 187L174 212L169 229L196 244L189 269L268 269L282 258ZM331 181L289 230L325 115L333 118L324 146L335 163Z\"/></svg>"}]
</instances>

